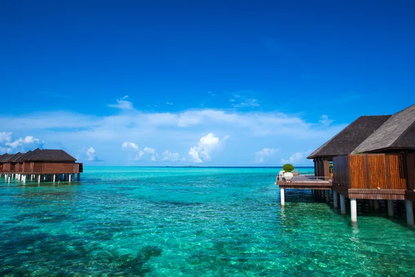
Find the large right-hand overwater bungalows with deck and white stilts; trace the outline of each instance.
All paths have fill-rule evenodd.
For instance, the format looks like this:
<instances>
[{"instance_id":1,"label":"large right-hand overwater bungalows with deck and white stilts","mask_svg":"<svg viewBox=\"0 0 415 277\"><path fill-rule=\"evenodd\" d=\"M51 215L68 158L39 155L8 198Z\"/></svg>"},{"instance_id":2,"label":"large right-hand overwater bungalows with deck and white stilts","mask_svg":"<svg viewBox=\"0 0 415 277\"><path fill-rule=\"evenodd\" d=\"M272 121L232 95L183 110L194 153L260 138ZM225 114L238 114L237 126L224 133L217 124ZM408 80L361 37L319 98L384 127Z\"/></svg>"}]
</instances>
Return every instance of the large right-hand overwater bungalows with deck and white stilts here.
<instances>
[{"instance_id":1,"label":"large right-hand overwater bungalows with deck and white stilts","mask_svg":"<svg viewBox=\"0 0 415 277\"><path fill-rule=\"evenodd\" d=\"M333 136L307 159L313 159L315 177L278 179L281 203L286 189L311 189L346 213L350 201L351 222L357 222L357 201L368 199L379 208L385 200L389 216L394 202L405 201L407 224L414 226L415 201L415 105L393 115L360 116ZM333 176L329 164L333 163Z\"/></svg>"}]
</instances>

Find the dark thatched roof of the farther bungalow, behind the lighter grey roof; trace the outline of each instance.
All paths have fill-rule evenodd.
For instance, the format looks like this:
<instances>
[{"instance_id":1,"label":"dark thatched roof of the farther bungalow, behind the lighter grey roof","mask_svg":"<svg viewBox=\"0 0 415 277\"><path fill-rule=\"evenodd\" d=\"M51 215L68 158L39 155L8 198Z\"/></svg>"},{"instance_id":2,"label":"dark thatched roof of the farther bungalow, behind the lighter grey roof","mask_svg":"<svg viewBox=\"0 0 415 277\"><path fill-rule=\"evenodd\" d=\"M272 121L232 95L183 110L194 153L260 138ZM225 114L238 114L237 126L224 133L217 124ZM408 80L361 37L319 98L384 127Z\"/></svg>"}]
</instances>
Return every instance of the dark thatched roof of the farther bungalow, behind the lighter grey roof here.
<instances>
[{"instance_id":1,"label":"dark thatched roof of the farther bungalow, behind the lighter grey roof","mask_svg":"<svg viewBox=\"0 0 415 277\"><path fill-rule=\"evenodd\" d=\"M362 141L373 134L391 116L360 116L329 141L311 153L307 159L350 154Z\"/></svg>"}]
</instances>

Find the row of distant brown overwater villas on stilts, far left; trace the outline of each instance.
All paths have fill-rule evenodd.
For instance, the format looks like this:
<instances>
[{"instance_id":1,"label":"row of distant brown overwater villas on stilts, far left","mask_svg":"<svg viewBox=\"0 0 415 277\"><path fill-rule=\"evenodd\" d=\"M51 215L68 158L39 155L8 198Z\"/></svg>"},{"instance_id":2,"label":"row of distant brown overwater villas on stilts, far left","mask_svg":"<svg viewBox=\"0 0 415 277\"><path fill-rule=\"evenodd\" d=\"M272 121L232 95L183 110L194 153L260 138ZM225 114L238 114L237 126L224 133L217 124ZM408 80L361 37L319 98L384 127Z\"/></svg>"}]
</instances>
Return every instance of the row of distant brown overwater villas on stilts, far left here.
<instances>
[{"instance_id":1,"label":"row of distant brown overwater villas on stilts, far left","mask_svg":"<svg viewBox=\"0 0 415 277\"><path fill-rule=\"evenodd\" d=\"M0 175L6 180L71 181L80 179L82 163L64 150L36 150L0 155Z\"/></svg>"}]
</instances>

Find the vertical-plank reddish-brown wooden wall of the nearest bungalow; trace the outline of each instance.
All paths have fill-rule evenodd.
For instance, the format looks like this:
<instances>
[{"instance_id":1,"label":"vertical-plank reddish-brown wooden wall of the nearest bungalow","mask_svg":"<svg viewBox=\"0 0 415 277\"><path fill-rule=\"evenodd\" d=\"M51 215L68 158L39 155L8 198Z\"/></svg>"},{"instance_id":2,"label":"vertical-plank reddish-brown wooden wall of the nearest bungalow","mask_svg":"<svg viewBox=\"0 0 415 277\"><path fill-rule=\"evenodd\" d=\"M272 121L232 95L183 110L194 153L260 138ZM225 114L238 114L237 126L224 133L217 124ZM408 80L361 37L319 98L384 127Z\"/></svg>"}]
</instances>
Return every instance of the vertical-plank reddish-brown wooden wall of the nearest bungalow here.
<instances>
[{"instance_id":1,"label":"vertical-plank reddish-brown wooden wall of the nearest bungalow","mask_svg":"<svg viewBox=\"0 0 415 277\"><path fill-rule=\"evenodd\" d=\"M406 188L402 154L353 154L333 159L333 183L346 188Z\"/></svg>"}]
</instances>

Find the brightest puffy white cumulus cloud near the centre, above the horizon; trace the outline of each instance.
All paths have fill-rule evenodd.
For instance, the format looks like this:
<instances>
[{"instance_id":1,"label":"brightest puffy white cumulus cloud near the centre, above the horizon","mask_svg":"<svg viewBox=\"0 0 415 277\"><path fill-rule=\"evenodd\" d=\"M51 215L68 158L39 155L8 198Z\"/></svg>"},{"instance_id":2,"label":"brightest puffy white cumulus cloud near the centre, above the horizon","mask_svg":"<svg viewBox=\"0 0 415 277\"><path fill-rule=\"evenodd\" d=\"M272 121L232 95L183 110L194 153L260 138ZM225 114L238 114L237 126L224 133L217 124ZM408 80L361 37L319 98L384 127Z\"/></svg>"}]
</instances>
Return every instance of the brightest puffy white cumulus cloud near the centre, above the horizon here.
<instances>
[{"instance_id":1,"label":"brightest puffy white cumulus cloud near the centre, above the horizon","mask_svg":"<svg viewBox=\"0 0 415 277\"><path fill-rule=\"evenodd\" d=\"M214 136L213 133L209 133L206 136L201 137L198 145L193 146L189 150L190 159L194 163L203 163L205 161L210 161L210 152L219 148L221 143L228 140L230 136L224 136L223 139Z\"/></svg>"}]
</instances>

